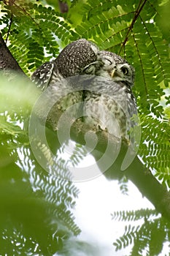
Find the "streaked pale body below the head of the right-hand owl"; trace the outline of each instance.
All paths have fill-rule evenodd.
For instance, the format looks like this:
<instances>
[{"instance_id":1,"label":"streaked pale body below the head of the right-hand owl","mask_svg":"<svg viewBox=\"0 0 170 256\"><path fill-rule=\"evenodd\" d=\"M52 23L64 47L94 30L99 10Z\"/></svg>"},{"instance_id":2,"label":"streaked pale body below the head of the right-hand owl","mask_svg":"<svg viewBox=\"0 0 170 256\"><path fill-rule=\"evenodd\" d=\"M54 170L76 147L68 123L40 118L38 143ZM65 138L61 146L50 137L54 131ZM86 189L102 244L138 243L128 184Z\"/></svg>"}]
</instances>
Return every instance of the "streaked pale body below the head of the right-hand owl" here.
<instances>
[{"instance_id":1,"label":"streaked pale body below the head of the right-hand owl","mask_svg":"<svg viewBox=\"0 0 170 256\"><path fill-rule=\"evenodd\" d=\"M123 83L95 77L85 91L85 122L94 129L107 130L117 138L126 138L132 126L131 117L136 113L134 100L128 97Z\"/></svg>"}]
</instances>

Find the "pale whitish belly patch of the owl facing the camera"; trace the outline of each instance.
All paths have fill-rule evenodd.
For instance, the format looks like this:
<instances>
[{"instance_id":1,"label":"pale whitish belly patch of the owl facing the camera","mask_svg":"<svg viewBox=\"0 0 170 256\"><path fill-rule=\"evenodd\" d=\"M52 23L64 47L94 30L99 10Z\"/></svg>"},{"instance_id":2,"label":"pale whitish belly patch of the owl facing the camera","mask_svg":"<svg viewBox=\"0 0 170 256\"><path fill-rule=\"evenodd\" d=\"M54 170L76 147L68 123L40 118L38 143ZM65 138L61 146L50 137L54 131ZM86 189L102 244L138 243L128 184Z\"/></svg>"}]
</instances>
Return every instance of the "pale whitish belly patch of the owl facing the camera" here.
<instances>
[{"instance_id":1,"label":"pale whitish belly patch of the owl facing the camera","mask_svg":"<svg viewBox=\"0 0 170 256\"><path fill-rule=\"evenodd\" d=\"M87 93L85 102L85 122L93 124L94 129L102 129L117 138L125 137L126 118L120 105L106 95Z\"/></svg>"}]
</instances>

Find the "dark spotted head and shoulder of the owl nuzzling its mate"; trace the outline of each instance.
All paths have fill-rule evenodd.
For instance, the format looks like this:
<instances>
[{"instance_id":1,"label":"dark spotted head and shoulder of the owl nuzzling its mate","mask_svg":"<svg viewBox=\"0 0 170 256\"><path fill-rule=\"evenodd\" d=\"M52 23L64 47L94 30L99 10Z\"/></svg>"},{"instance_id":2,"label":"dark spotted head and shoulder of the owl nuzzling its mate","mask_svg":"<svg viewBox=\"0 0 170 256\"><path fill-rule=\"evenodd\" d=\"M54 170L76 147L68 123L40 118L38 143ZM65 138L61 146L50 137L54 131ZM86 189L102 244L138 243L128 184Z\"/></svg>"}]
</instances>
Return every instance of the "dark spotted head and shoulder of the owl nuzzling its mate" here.
<instances>
[{"instance_id":1,"label":"dark spotted head and shoulder of the owl nuzzling its mate","mask_svg":"<svg viewBox=\"0 0 170 256\"><path fill-rule=\"evenodd\" d=\"M81 74L85 67L97 61L97 53L98 47L95 44L86 39L78 39L63 48L57 59L36 69L31 80L44 91L54 83L57 85L61 78Z\"/></svg>"}]
</instances>

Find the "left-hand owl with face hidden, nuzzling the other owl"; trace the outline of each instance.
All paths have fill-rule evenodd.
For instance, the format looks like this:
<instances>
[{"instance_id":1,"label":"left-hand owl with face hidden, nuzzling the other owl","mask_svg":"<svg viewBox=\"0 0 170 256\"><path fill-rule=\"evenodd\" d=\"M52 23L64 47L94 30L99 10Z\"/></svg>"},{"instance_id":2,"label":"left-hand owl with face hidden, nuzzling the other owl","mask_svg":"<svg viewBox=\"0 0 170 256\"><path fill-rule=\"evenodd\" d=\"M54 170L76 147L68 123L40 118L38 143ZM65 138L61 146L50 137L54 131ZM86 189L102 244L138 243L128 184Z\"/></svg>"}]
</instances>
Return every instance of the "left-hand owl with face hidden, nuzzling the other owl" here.
<instances>
[{"instance_id":1,"label":"left-hand owl with face hidden, nuzzling the other owl","mask_svg":"<svg viewBox=\"0 0 170 256\"><path fill-rule=\"evenodd\" d=\"M98 47L93 42L78 39L63 48L57 59L42 64L33 73L31 80L36 83L36 86L42 91L48 88L47 101L49 100L51 104L55 102L53 113L56 109L64 111L69 106L82 102L83 91L79 89L75 91L77 84L70 83L69 79L65 78L79 75L85 67L96 63L97 53ZM95 72L94 68L96 69L93 65L90 66L88 73L93 74ZM73 92L70 93L70 91ZM64 96L63 93L66 95ZM60 99L58 100L58 98ZM45 100L45 102L47 101ZM43 113L43 110L41 112ZM77 112L77 109L75 109L75 112ZM76 114L75 112L72 113L73 116Z\"/></svg>"}]
</instances>

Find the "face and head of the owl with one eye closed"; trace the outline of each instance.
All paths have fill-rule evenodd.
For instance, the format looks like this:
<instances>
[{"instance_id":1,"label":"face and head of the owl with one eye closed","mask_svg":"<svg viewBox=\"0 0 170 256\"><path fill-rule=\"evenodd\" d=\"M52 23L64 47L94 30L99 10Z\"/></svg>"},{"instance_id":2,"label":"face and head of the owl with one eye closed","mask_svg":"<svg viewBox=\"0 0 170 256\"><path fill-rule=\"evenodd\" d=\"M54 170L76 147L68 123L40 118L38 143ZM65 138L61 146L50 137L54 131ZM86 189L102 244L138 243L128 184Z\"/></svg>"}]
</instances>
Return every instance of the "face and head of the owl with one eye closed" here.
<instances>
[{"instance_id":1,"label":"face and head of the owl with one eye closed","mask_svg":"<svg viewBox=\"0 0 170 256\"><path fill-rule=\"evenodd\" d=\"M134 67L125 59L115 53L101 50L98 52L98 61L101 66L96 70L96 75L134 85Z\"/></svg>"}]
</instances>

